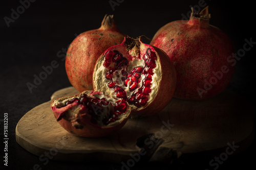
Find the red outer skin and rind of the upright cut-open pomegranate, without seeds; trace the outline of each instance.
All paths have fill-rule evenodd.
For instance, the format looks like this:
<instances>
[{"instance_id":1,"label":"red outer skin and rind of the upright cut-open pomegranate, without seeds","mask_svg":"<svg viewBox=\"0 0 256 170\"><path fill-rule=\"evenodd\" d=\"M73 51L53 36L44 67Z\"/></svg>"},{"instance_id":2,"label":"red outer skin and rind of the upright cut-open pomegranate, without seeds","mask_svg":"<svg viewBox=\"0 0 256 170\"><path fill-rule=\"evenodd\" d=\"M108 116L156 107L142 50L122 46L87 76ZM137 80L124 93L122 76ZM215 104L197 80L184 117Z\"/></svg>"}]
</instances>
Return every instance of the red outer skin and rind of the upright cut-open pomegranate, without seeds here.
<instances>
[{"instance_id":1,"label":"red outer skin and rind of the upright cut-open pomegranate, without seeds","mask_svg":"<svg viewBox=\"0 0 256 170\"><path fill-rule=\"evenodd\" d=\"M109 51L117 50L117 51L131 51L131 48L134 47L135 43L139 46L139 56L140 60L142 59L143 54L146 54L146 51L148 48L151 48L153 52L155 52L158 56L158 64L161 65L161 75L159 74L158 77L161 77L161 80L157 83L153 84L151 86L151 89L154 90L156 88L159 88L158 93L154 94L154 98L150 103L147 103L146 106L136 107L135 105L130 105L132 108L132 115L133 116L151 116L153 114L157 114L162 109L164 109L168 103L172 100L173 94L176 87L176 71L174 68L174 65L172 61L170 61L169 57L166 55L166 53L149 44L142 42L142 37L140 36L136 39L131 37L125 37L123 42L119 45L112 46L108 48L98 59L96 65L95 65L95 71L94 71L94 90L95 91L103 91L105 95L111 96L112 89L111 88L105 88L104 81L98 78L97 70L100 70L99 68L103 67L103 60L106 56L106 54ZM134 43L131 43L134 42ZM133 45L131 45L133 44ZM125 50L123 50L125 49ZM131 57L131 56L130 56ZM132 59L131 59L132 60ZM129 70L130 71L130 70ZM128 71L128 72L129 72ZM154 71L155 72L155 71ZM154 73L156 74L156 73ZM105 78L104 78L105 79ZM156 85L158 84L158 85ZM139 89L139 88L136 88ZM142 92L141 92L142 93ZM150 93L149 95L153 95ZM126 95L125 95L126 97ZM151 96L152 97L152 96Z\"/></svg>"}]
</instances>

